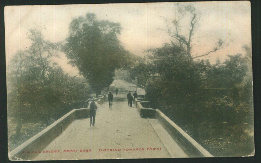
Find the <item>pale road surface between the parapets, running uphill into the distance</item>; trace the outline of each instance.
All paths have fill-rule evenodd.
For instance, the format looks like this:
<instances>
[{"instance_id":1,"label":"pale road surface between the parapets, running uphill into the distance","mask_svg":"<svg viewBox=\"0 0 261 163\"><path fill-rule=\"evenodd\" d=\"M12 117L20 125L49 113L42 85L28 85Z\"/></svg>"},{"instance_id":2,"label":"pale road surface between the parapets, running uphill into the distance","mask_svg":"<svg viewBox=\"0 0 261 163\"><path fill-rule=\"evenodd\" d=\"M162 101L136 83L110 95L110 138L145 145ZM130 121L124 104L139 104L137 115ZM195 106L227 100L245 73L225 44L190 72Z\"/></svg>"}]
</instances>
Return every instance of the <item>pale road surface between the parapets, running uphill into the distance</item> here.
<instances>
[{"instance_id":1,"label":"pale road surface between the parapets, running uphill into the distance","mask_svg":"<svg viewBox=\"0 0 261 163\"><path fill-rule=\"evenodd\" d=\"M117 96L116 86L119 89ZM108 102L101 105L96 113L95 127L89 126L89 118L75 120L44 149L49 152L60 150L59 153L42 151L34 160L170 158L148 119L141 118L134 105L128 106L126 94L129 90L134 92L135 85L115 80L111 90L113 109L108 108ZM144 94L141 88L137 88L137 92Z\"/></svg>"}]
</instances>

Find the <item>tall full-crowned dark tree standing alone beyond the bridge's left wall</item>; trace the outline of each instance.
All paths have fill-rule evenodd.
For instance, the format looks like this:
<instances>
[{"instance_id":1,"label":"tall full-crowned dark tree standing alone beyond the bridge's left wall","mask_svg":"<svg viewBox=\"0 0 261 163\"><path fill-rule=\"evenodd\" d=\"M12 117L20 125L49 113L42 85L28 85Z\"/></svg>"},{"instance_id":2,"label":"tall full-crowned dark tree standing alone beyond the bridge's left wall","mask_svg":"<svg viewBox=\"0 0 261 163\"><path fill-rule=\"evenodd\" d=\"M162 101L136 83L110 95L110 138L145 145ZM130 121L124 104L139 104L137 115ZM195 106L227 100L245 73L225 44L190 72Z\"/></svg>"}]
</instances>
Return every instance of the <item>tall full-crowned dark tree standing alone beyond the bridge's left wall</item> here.
<instances>
[{"instance_id":1,"label":"tall full-crowned dark tree standing alone beyond the bridge's left wall","mask_svg":"<svg viewBox=\"0 0 261 163\"><path fill-rule=\"evenodd\" d=\"M118 40L120 24L98 21L95 14L75 18L70 23L70 36L63 51L70 64L88 79L96 96L113 83L116 68L121 68L126 51Z\"/></svg>"}]
</instances>

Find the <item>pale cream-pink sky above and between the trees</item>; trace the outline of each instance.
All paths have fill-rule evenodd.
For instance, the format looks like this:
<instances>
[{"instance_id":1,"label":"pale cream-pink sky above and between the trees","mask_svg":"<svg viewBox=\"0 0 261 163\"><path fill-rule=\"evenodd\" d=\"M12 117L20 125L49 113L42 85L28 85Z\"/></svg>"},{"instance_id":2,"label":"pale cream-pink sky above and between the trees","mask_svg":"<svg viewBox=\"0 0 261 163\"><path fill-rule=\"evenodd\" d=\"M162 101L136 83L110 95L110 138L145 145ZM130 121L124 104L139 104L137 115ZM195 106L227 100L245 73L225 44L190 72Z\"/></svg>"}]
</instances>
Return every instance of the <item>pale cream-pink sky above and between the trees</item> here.
<instances>
[{"instance_id":1,"label":"pale cream-pink sky above and between the trees","mask_svg":"<svg viewBox=\"0 0 261 163\"><path fill-rule=\"evenodd\" d=\"M195 24L192 55L212 51L221 38L229 44L222 50L199 59L216 58L223 62L226 55L244 54L243 45L251 45L251 9L249 1L182 2L193 4L200 19ZM69 35L69 25L74 18L92 12L98 20L109 20L122 26L119 40L126 50L144 56L149 48L162 47L171 41L167 26L182 18L181 32L187 33L189 17L178 14L177 3L117 3L80 5L28 5L5 7L6 65L18 50L30 47L29 29L38 29L44 39L64 41ZM185 34L184 33L184 34ZM203 36L203 37L202 37ZM197 38L199 37L199 38ZM76 67L68 64L64 53L54 58L69 75L78 75Z\"/></svg>"}]
</instances>

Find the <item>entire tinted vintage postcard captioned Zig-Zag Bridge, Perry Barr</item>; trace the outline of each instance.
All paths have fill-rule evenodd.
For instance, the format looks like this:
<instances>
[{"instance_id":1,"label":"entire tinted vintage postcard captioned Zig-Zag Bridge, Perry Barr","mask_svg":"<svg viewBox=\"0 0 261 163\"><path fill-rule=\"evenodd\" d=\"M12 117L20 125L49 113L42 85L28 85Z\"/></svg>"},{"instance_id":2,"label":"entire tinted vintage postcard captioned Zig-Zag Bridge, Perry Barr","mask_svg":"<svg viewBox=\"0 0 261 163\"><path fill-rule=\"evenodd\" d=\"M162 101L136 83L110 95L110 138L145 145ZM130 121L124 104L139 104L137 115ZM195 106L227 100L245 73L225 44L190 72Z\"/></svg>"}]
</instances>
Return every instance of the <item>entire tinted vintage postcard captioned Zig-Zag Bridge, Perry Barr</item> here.
<instances>
[{"instance_id":1,"label":"entire tinted vintage postcard captioned Zig-Zag Bridge, Perry Barr","mask_svg":"<svg viewBox=\"0 0 261 163\"><path fill-rule=\"evenodd\" d=\"M255 155L250 1L5 6L10 160Z\"/></svg>"}]
</instances>

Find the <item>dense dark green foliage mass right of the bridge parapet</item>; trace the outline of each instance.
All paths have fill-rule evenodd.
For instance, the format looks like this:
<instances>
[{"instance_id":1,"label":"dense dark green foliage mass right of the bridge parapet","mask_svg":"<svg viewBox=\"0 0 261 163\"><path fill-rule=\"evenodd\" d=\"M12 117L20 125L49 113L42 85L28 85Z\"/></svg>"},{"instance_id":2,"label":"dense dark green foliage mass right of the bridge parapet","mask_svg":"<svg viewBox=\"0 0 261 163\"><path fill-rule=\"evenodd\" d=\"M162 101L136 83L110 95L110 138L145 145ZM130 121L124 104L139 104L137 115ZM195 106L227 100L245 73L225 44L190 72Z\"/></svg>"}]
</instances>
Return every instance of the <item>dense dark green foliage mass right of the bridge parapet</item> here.
<instances>
[{"instance_id":1,"label":"dense dark green foliage mass right of the bridge parapet","mask_svg":"<svg viewBox=\"0 0 261 163\"><path fill-rule=\"evenodd\" d=\"M223 136L248 144L243 154L251 154L253 139L242 130L247 124L253 131L251 50L247 46L244 49L245 56L228 55L223 64L210 65L204 60L191 60L186 48L171 42L149 49L131 71L146 79L147 98L152 105L189 130L196 141L204 143L215 135ZM230 131L235 134L229 135ZM220 135L223 132L226 134Z\"/></svg>"}]
</instances>

